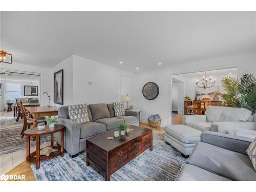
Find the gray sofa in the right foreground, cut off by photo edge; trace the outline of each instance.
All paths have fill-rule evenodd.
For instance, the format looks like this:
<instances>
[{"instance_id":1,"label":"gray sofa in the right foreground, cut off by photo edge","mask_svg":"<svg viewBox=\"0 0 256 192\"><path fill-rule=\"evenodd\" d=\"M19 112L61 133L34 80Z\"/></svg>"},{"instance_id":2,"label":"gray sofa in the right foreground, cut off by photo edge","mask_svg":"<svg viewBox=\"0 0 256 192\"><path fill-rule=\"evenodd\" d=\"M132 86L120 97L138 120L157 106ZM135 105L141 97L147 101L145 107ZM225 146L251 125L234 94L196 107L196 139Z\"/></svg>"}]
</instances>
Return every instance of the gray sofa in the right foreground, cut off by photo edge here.
<instances>
[{"instance_id":1,"label":"gray sofa in the right foreground, cut off by photo edge","mask_svg":"<svg viewBox=\"0 0 256 192\"><path fill-rule=\"evenodd\" d=\"M256 181L246 150L252 138L205 131L176 181Z\"/></svg>"}]
</instances>

